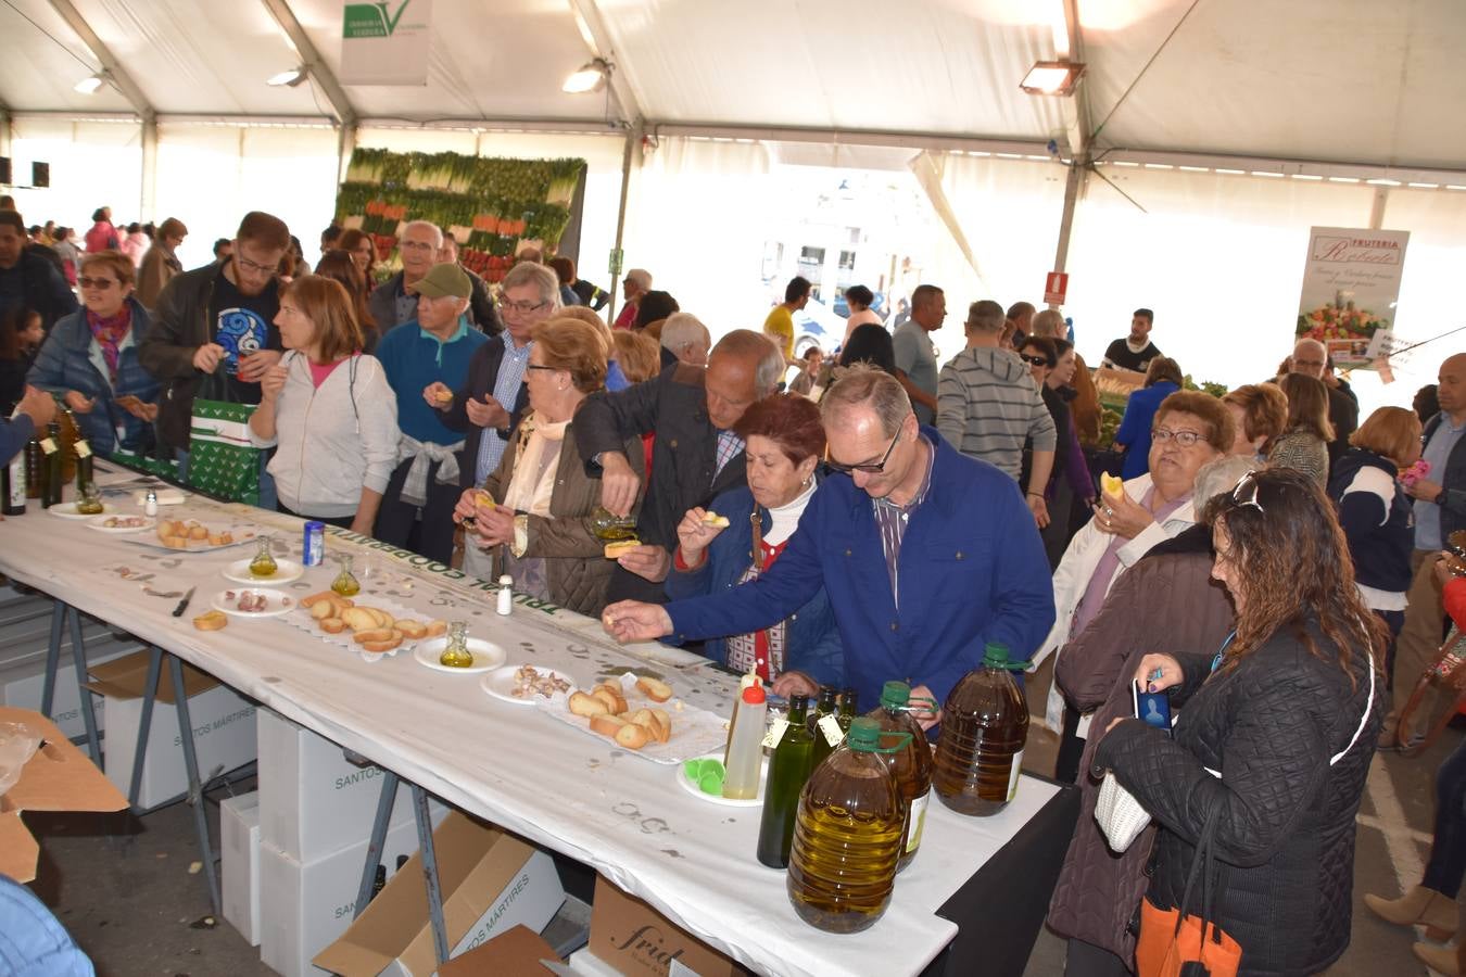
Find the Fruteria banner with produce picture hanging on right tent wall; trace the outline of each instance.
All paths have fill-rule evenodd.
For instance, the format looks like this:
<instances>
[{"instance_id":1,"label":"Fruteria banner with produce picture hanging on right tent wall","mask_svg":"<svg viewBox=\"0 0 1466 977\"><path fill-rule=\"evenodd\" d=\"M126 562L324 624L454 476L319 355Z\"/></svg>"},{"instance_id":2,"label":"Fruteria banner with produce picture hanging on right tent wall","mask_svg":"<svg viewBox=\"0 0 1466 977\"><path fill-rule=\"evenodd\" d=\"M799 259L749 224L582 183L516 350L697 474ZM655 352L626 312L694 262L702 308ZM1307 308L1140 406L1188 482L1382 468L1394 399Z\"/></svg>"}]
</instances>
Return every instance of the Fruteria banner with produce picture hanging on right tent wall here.
<instances>
[{"instance_id":1,"label":"Fruteria banner with produce picture hanging on right tent wall","mask_svg":"<svg viewBox=\"0 0 1466 977\"><path fill-rule=\"evenodd\" d=\"M1296 335L1324 343L1340 369L1384 363L1409 242L1400 230L1312 229Z\"/></svg>"}]
</instances>

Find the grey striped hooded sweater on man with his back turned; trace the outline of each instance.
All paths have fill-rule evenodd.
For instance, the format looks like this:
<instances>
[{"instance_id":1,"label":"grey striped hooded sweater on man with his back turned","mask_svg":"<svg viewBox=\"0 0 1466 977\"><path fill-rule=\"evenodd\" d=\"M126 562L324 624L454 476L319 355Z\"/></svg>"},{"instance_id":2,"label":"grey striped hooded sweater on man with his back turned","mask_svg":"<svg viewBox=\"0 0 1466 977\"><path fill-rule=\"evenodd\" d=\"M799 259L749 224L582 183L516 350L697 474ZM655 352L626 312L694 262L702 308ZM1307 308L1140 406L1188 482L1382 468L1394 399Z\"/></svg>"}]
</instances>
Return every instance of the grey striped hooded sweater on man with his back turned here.
<instances>
[{"instance_id":1,"label":"grey striped hooded sweater on man with his back turned","mask_svg":"<svg viewBox=\"0 0 1466 977\"><path fill-rule=\"evenodd\" d=\"M1012 350L969 347L941 368L937 379L937 431L970 458L995 464L1017 479L1023 441L1053 451L1054 419L1034 375Z\"/></svg>"}]
</instances>

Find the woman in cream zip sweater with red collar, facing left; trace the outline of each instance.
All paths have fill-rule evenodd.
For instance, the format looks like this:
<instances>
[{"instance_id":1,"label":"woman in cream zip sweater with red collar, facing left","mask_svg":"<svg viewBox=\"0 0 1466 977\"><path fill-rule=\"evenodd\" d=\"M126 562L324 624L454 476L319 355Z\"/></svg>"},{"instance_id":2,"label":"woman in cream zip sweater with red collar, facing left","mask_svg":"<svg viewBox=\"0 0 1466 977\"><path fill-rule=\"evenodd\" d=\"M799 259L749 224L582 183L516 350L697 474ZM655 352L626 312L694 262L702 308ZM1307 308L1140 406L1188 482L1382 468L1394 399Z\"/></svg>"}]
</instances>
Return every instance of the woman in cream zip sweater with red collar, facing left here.
<instances>
[{"instance_id":1,"label":"woman in cream zip sweater with red collar, facing left","mask_svg":"<svg viewBox=\"0 0 1466 977\"><path fill-rule=\"evenodd\" d=\"M249 417L257 447L279 445L270 475L280 510L366 536L397 463L397 398L342 283L302 275L276 316L287 350L259 381Z\"/></svg>"}]
</instances>

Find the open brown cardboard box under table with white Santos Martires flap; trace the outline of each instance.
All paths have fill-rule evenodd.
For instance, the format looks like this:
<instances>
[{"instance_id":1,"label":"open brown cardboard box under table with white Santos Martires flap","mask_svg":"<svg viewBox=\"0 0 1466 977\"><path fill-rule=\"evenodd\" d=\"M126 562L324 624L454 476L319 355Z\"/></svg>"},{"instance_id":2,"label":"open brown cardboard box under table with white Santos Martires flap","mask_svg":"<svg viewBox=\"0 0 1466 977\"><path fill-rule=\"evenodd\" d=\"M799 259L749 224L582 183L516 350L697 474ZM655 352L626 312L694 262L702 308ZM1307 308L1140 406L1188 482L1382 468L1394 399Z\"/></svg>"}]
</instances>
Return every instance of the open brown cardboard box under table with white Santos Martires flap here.
<instances>
[{"instance_id":1,"label":"open brown cardboard box under table with white Santos Martires flap","mask_svg":"<svg viewBox=\"0 0 1466 977\"><path fill-rule=\"evenodd\" d=\"M459 811L432 832L432 848L450 956L513 926L523 924L538 933L564 902L550 855ZM315 965L339 974L393 977L427 977L435 970L428 894L418 855L346 935L315 958Z\"/></svg>"}]
</instances>

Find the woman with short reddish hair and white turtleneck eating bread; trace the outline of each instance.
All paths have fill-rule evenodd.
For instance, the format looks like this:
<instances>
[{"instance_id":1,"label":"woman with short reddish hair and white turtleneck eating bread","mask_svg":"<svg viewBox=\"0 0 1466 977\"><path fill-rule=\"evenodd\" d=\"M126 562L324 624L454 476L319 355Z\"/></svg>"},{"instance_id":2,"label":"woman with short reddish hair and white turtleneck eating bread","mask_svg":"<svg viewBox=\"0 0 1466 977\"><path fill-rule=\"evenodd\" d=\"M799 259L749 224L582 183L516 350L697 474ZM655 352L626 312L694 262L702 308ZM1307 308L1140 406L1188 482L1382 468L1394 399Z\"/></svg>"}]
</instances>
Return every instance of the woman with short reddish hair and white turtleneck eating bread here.
<instances>
[{"instance_id":1,"label":"woman with short reddish hair and white turtleneck eating bread","mask_svg":"<svg viewBox=\"0 0 1466 977\"><path fill-rule=\"evenodd\" d=\"M729 489L710 508L683 516L667 576L673 601L721 593L758 577L778 560L815 494L825 435L812 400L765 397L734 431L748 444L748 488ZM844 649L824 589L789 620L710 640L704 653L740 672L756 672L778 696L812 696L819 686L843 684Z\"/></svg>"}]
</instances>

